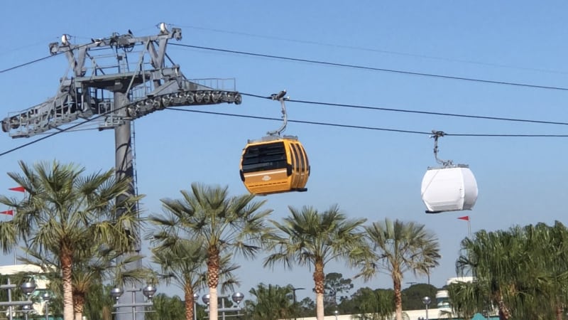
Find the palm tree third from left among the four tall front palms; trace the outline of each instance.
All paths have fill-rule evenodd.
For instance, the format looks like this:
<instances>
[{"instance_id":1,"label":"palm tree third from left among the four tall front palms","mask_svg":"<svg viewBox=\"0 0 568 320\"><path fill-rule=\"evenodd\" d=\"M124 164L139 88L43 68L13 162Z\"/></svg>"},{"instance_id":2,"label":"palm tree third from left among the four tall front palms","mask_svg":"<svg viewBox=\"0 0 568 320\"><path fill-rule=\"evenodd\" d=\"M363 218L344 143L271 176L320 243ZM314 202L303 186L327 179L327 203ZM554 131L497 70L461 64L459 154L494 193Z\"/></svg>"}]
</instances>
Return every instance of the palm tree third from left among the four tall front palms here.
<instances>
[{"instance_id":1,"label":"palm tree third from left among the four tall front palms","mask_svg":"<svg viewBox=\"0 0 568 320\"><path fill-rule=\"evenodd\" d=\"M273 267L278 262L290 268L293 263L314 268L317 319L324 318L324 267L332 260L346 260L356 265L371 252L360 232L364 219L347 219L338 206L319 213L312 207L297 210L288 207L290 216L283 223L272 221L280 235L267 236L268 252L274 252L264 261Z\"/></svg>"}]
</instances>

